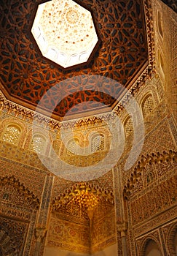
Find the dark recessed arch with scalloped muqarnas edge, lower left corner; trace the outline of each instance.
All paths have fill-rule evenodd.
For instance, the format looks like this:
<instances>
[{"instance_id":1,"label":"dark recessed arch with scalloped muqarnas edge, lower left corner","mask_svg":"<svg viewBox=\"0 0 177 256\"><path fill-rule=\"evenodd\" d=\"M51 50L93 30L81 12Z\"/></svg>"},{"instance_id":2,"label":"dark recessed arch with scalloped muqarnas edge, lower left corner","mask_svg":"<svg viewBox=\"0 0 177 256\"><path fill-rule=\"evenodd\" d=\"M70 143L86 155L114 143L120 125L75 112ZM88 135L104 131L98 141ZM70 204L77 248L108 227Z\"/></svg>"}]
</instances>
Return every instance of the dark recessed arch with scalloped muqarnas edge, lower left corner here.
<instances>
[{"instance_id":1,"label":"dark recessed arch with scalloped muqarnas edge, lower left corner","mask_svg":"<svg viewBox=\"0 0 177 256\"><path fill-rule=\"evenodd\" d=\"M4 255L32 256L39 199L15 176L1 177L0 186L2 252Z\"/></svg>"}]
</instances>

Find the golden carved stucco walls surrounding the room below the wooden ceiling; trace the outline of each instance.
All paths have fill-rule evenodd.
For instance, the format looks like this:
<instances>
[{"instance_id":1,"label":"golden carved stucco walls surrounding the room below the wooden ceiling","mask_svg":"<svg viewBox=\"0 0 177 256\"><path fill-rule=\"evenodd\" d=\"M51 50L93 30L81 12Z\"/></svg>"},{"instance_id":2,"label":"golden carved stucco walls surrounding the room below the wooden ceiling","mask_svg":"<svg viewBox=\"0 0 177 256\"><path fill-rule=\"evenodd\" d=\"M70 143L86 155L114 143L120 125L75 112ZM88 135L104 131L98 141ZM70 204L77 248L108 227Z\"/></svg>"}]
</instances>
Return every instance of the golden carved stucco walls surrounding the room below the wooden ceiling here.
<instances>
[{"instance_id":1,"label":"golden carved stucco walls surrounding the room below the wooden ceiling","mask_svg":"<svg viewBox=\"0 0 177 256\"><path fill-rule=\"evenodd\" d=\"M86 182L82 173L82 181L74 181L72 173L55 176L39 155L51 166L56 155L74 166L101 161L111 145L106 121L90 116L76 123L74 141L91 155L85 161L75 156L71 138L61 140L60 122L42 116L34 136L33 112L1 93L0 256L177 255L177 15L160 0L144 2L153 67L130 89L145 134L129 170L125 164L137 131L119 104L114 112L125 130L122 156L103 176ZM66 133L71 125L66 122Z\"/></svg>"}]
</instances>

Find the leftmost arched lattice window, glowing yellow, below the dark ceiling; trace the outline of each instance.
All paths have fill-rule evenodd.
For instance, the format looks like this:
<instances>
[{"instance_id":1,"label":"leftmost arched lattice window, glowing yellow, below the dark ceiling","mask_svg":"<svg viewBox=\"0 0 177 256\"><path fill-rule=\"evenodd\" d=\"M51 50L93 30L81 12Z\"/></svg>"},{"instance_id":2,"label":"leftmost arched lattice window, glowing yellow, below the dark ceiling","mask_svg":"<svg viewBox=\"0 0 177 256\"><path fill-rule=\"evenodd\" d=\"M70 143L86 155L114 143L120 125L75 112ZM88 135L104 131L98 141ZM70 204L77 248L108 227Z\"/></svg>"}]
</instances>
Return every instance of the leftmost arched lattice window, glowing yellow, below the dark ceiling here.
<instances>
[{"instance_id":1,"label":"leftmost arched lattice window, glowing yellow, below the dark ceiling","mask_svg":"<svg viewBox=\"0 0 177 256\"><path fill-rule=\"evenodd\" d=\"M20 129L14 125L9 125L4 133L2 140L16 144L20 135Z\"/></svg>"}]
</instances>

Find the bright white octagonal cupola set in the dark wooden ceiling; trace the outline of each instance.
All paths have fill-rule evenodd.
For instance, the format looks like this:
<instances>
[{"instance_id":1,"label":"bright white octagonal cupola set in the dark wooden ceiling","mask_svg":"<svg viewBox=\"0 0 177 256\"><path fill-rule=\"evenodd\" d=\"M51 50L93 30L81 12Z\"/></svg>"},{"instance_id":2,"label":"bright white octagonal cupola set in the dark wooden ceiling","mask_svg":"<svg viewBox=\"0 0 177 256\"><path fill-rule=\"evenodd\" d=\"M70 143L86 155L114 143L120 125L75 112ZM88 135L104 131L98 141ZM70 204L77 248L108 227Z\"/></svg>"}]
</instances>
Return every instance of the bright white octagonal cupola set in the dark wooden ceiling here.
<instances>
[{"instance_id":1,"label":"bright white octagonal cupola set in the dark wooden ceiling","mask_svg":"<svg viewBox=\"0 0 177 256\"><path fill-rule=\"evenodd\" d=\"M98 42L90 11L72 0L39 4L31 32L42 55L64 68L86 62Z\"/></svg>"}]
</instances>

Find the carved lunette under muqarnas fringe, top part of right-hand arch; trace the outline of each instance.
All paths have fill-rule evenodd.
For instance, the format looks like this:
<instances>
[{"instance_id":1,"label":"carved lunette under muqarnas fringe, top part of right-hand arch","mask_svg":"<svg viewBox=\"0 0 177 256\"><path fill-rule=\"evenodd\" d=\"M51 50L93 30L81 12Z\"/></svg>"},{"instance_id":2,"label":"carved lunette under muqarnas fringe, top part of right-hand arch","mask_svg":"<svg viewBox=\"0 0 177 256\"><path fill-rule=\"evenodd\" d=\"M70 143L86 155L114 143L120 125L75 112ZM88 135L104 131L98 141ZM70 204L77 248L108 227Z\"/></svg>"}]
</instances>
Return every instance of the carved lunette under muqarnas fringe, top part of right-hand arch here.
<instances>
[{"instance_id":1,"label":"carved lunette under muqarnas fringe, top part of right-hand arch","mask_svg":"<svg viewBox=\"0 0 177 256\"><path fill-rule=\"evenodd\" d=\"M176 157L175 151L142 156L123 189L125 199L134 195L137 197L143 189L151 189L158 181L176 175Z\"/></svg>"}]
</instances>

